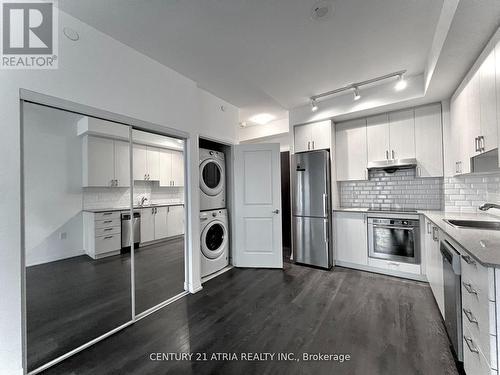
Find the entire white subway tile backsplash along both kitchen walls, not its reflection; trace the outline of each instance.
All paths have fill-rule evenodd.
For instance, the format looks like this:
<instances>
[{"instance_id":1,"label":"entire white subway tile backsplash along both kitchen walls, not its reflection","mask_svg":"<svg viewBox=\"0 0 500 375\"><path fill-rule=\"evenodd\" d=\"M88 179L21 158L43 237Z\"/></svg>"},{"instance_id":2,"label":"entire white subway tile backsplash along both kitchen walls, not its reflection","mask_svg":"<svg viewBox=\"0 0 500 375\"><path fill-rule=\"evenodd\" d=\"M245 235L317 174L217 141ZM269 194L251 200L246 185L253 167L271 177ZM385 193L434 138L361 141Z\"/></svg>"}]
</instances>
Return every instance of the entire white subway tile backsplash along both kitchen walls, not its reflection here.
<instances>
[{"instance_id":1,"label":"entire white subway tile backsplash along both kitchen walls, not its reflection","mask_svg":"<svg viewBox=\"0 0 500 375\"><path fill-rule=\"evenodd\" d=\"M342 207L477 212L484 202L500 203L500 174L419 178L414 169L403 169L393 174L370 171L369 177L338 183Z\"/></svg>"}]
</instances>

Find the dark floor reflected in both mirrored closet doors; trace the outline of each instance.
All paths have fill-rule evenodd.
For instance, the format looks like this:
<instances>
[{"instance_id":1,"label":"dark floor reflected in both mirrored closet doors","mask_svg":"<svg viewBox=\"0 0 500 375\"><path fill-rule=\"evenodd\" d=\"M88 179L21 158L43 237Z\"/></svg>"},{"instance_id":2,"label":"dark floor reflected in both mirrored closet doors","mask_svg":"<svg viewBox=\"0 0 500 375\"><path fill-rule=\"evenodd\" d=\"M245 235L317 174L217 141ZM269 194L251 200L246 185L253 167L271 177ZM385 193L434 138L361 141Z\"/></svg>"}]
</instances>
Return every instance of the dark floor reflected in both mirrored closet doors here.
<instances>
[{"instance_id":1,"label":"dark floor reflected in both mirrored closet doors","mask_svg":"<svg viewBox=\"0 0 500 375\"><path fill-rule=\"evenodd\" d=\"M135 253L136 312L184 291L184 239ZM82 255L26 269L27 358L33 370L130 321L130 254Z\"/></svg>"}]
</instances>

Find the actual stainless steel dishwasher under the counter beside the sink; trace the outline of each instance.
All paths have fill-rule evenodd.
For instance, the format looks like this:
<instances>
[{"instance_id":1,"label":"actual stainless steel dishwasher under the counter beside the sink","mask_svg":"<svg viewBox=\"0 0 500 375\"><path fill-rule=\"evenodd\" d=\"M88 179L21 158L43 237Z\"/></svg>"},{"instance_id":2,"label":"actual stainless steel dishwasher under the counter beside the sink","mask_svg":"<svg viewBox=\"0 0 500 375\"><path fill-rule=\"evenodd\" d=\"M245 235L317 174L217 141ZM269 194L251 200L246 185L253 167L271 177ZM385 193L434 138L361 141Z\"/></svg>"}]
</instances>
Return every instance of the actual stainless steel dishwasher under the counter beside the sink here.
<instances>
[{"instance_id":1,"label":"actual stainless steel dishwasher under the counter beside the sink","mask_svg":"<svg viewBox=\"0 0 500 375\"><path fill-rule=\"evenodd\" d=\"M441 241L444 282L444 323L457 359L463 362L462 292L460 253L446 240Z\"/></svg>"}]
</instances>

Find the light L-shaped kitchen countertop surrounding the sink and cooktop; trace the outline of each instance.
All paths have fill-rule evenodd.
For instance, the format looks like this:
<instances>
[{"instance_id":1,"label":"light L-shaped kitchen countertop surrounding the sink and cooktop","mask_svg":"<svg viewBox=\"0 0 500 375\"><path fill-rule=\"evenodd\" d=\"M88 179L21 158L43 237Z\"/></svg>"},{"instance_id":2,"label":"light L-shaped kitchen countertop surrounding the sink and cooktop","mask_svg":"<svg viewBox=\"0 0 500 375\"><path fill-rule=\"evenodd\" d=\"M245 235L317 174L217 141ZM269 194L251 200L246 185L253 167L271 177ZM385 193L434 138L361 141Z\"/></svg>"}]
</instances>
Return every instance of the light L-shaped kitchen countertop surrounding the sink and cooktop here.
<instances>
[{"instance_id":1,"label":"light L-shaped kitchen countertop surrounding the sink and cooktop","mask_svg":"<svg viewBox=\"0 0 500 375\"><path fill-rule=\"evenodd\" d=\"M337 207L333 211L343 212L368 212L368 208ZM370 211L372 212L372 211ZM381 213L381 212L376 212ZM391 212L383 212L390 214ZM394 211L394 213L402 213ZM448 224L444 219L500 221L498 216L488 213L460 213L449 211L417 210L417 214L424 215L439 227L446 235L451 237L461 249L471 255L479 263L486 267L500 268L500 231L457 228Z\"/></svg>"}]
</instances>

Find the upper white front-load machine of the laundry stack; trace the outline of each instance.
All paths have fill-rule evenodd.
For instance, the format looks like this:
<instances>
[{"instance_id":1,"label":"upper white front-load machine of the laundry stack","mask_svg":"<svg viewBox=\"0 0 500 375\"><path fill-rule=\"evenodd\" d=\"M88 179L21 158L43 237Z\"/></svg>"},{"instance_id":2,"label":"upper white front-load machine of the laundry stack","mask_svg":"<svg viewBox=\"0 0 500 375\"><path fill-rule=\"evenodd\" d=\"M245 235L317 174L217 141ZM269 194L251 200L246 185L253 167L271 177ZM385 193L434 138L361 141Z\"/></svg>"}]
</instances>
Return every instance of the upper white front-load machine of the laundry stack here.
<instances>
[{"instance_id":1,"label":"upper white front-load machine of the laundry stack","mask_svg":"<svg viewBox=\"0 0 500 375\"><path fill-rule=\"evenodd\" d=\"M200 211L226 207L224 153L200 148Z\"/></svg>"}]
</instances>

